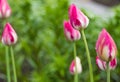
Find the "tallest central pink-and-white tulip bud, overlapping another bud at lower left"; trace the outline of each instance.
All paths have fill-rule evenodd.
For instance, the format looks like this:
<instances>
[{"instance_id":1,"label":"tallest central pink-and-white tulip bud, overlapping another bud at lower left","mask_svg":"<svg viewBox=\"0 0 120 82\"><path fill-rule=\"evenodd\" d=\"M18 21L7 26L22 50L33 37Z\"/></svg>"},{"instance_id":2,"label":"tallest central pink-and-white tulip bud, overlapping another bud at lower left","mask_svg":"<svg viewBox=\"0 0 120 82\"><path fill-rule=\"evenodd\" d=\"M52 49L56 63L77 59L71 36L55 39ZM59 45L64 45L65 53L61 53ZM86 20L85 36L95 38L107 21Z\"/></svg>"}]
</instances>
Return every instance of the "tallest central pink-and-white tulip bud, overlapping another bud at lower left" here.
<instances>
[{"instance_id":1,"label":"tallest central pink-and-white tulip bud, overlapping another bud at lower left","mask_svg":"<svg viewBox=\"0 0 120 82\"><path fill-rule=\"evenodd\" d=\"M70 23L77 30L86 28L89 24L88 17L85 16L74 4L69 7L69 18Z\"/></svg>"}]
</instances>

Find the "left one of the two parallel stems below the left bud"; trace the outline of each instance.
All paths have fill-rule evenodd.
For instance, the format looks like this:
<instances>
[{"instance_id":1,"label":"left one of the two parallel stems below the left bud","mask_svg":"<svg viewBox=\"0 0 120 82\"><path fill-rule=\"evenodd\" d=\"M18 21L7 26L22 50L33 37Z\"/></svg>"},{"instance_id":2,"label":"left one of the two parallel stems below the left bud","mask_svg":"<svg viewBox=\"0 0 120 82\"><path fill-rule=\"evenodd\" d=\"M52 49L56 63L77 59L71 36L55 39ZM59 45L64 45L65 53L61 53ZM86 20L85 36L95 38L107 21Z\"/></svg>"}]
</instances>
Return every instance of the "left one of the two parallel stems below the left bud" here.
<instances>
[{"instance_id":1,"label":"left one of the two parallel stems below the left bud","mask_svg":"<svg viewBox=\"0 0 120 82\"><path fill-rule=\"evenodd\" d=\"M6 71L7 71L7 82L11 82L10 79L10 62L9 62L9 50L8 46L6 46Z\"/></svg>"}]
</instances>

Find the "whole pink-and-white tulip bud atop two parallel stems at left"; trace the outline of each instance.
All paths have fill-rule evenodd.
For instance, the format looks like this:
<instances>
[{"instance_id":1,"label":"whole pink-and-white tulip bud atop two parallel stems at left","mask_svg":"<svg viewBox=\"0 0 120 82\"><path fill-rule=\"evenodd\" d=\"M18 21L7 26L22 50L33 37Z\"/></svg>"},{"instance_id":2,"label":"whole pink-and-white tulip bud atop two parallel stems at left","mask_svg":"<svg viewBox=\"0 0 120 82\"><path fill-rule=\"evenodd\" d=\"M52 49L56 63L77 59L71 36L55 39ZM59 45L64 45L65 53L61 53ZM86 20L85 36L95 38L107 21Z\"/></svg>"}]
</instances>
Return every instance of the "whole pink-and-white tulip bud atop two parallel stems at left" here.
<instances>
[{"instance_id":1,"label":"whole pink-and-white tulip bud atop two parallel stems at left","mask_svg":"<svg viewBox=\"0 0 120 82\"><path fill-rule=\"evenodd\" d=\"M12 28L12 26L7 23L4 27L3 33L2 33L2 43L5 45L12 45L17 42L17 34Z\"/></svg>"}]
</instances>

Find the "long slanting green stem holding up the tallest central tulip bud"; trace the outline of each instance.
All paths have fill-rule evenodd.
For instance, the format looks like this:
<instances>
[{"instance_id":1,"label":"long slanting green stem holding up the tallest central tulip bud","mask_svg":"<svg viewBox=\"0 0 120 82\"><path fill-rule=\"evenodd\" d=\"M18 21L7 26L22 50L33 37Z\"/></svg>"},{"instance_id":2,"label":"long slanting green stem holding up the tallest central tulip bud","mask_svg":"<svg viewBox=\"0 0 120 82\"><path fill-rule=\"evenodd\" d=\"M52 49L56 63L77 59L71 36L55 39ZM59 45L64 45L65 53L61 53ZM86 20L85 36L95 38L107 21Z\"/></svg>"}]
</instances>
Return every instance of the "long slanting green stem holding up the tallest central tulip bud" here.
<instances>
[{"instance_id":1,"label":"long slanting green stem holding up the tallest central tulip bud","mask_svg":"<svg viewBox=\"0 0 120 82\"><path fill-rule=\"evenodd\" d=\"M90 82L94 82L93 81L92 64L91 64L91 59L90 59L90 52L89 52L89 49L88 49L88 44L87 44L87 41L86 41L84 29L82 29L81 32L82 32L82 37L83 37L85 48L86 48L87 60L88 60L88 64L89 64Z\"/></svg>"}]
</instances>

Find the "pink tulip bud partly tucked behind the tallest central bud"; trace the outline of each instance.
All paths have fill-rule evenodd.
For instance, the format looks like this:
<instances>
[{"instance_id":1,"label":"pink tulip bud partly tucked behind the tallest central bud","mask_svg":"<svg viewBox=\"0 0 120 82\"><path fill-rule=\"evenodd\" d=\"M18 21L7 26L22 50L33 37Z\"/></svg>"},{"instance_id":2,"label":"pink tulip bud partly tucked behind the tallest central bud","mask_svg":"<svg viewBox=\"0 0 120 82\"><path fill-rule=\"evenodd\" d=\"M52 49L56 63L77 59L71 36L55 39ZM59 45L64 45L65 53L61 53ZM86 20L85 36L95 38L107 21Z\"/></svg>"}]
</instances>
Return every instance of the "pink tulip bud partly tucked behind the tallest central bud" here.
<instances>
[{"instance_id":1,"label":"pink tulip bud partly tucked behind the tallest central bud","mask_svg":"<svg viewBox=\"0 0 120 82\"><path fill-rule=\"evenodd\" d=\"M64 21L64 34L70 41L79 40L81 37L80 32L75 30L68 21Z\"/></svg>"}]
</instances>

